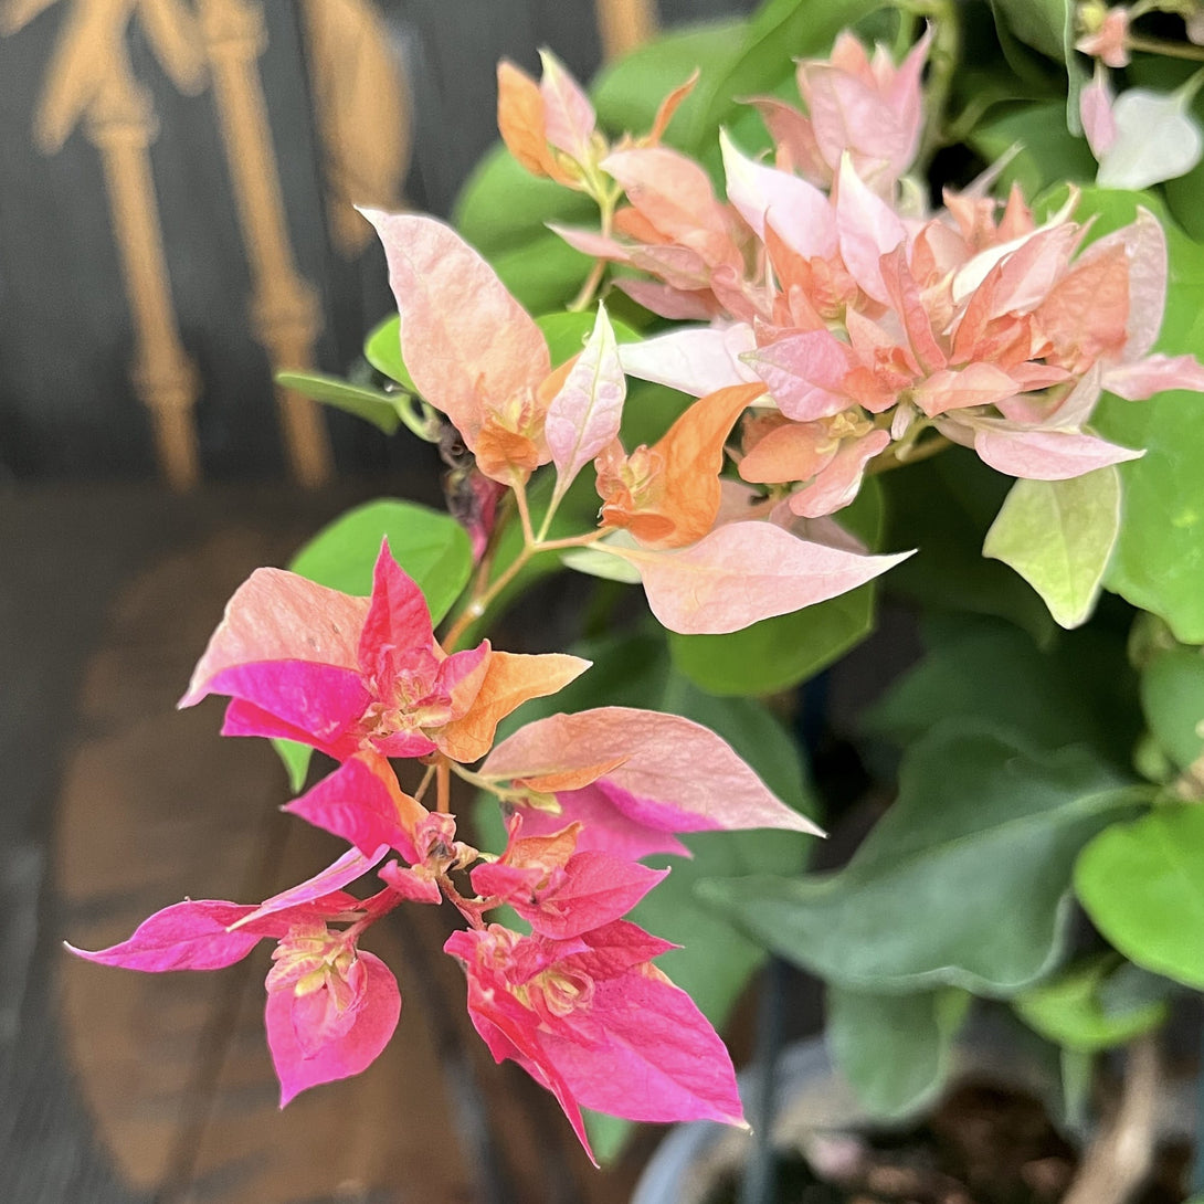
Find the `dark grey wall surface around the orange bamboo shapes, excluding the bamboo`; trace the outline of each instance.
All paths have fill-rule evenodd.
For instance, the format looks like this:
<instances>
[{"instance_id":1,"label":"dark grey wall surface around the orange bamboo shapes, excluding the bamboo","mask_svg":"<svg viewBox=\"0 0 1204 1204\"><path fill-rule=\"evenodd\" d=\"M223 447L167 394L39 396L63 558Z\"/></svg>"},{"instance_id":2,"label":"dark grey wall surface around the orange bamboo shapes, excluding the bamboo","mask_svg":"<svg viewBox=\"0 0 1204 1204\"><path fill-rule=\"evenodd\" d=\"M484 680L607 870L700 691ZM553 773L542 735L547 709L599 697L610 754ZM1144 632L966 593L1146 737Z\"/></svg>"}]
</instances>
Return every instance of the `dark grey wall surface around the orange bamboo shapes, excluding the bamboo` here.
<instances>
[{"instance_id":1,"label":"dark grey wall surface around the orange bamboo shapes, excluding the bamboo","mask_svg":"<svg viewBox=\"0 0 1204 1204\"><path fill-rule=\"evenodd\" d=\"M130 388L129 306L96 149L81 129L53 154L33 140L35 107L75 0L57 0L0 37L0 476L152 478L154 445ZM2 7L2 6L0 6ZM592 0L380 0L408 81L414 207L447 213L494 141L494 65L537 70L550 46L588 79L602 55ZM663 25L751 7L751 0L661 0ZM259 71L301 275L317 285L321 368L343 372L390 307L374 248L348 262L332 247L311 106L300 6L264 5ZM284 474L267 361L249 336L248 268L209 89L183 95L140 33L129 46L160 131L150 147L175 306L203 391L196 407L207 479ZM354 58L346 64L355 70ZM414 449L326 414L337 465L383 471Z\"/></svg>"}]
</instances>

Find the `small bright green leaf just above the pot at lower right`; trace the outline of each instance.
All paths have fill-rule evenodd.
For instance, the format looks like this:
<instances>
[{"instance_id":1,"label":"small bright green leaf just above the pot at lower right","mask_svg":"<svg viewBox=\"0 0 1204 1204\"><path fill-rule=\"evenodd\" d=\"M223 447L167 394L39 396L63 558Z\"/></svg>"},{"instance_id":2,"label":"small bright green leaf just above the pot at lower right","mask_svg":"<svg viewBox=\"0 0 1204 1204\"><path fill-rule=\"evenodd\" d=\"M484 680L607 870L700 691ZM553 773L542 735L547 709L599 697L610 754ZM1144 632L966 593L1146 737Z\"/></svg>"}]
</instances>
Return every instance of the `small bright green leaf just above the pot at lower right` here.
<instances>
[{"instance_id":1,"label":"small bright green leaf just above the pot at lower right","mask_svg":"<svg viewBox=\"0 0 1204 1204\"><path fill-rule=\"evenodd\" d=\"M1161 984L1157 995L1150 991L1141 997L1131 992L1125 1005L1115 1007L1108 985L1126 968L1134 972L1134 967L1114 955L1093 957L1017 995L1011 1005L1041 1037L1067 1049L1092 1052L1125 1045L1159 1027L1169 1013L1165 998L1169 984L1151 975L1146 975L1146 982L1151 987Z\"/></svg>"}]
</instances>

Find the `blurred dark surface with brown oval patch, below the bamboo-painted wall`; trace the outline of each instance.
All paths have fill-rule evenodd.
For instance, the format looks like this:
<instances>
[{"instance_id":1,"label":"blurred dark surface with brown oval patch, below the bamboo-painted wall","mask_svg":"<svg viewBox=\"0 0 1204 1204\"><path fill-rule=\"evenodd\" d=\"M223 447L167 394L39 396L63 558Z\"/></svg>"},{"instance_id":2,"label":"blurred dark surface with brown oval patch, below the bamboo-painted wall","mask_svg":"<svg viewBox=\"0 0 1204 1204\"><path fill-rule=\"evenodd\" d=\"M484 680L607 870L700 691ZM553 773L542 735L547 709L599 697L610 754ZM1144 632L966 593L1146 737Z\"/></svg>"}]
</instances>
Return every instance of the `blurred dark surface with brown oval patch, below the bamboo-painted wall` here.
<instances>
[{"instance_id":1,"label":"blurred dark surface with brown oval patch, below the bamboo-painted wall","mask_svg":"<svg viewBox=\"0 0 1204 1204\"><path fill-rule=\"evenodd\" d=\"M122 939L185 895L255 902L336 851L279 814L262 742L220 739L216 702L175 701L250 569L376 492L0 491L4 1204L627 1197L648 1141L594 1171L550 1097L492 1064L436 909L397 913L374 946L405 998L385 1055L284 1112L262 1037L266 948L169 975L61 950Z\"/></svg>"}]
</instances>

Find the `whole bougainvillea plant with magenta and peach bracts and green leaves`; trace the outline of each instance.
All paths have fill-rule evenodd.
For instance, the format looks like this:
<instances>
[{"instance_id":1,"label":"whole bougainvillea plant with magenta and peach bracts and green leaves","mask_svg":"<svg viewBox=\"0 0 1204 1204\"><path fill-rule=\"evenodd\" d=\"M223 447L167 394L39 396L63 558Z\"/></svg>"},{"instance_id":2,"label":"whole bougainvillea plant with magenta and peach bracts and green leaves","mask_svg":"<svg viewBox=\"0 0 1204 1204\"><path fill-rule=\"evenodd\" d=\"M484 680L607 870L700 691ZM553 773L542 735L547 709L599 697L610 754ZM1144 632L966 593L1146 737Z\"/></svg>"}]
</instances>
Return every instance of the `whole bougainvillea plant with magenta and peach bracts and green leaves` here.
<instances>
[{"instance_id":1,"label":"whole bougainvillea plant with magenta and peach bracts and green leaves","mask_svg":"<svg viewBox=\"0 0 1204 1204\"><path fill-rule=\"evenodd\" d=\"M289 377L439 444L450 515L379 502L255 572L182 701L229 697L297 789L337 762L287 809L350 848L83 956L273 939L287 1103L393 1033L361 936L450 904L473 1025L588 1151L583 1108L742 1123L713 1025L766 950L827 984L872 1111L931 1098L972 996L1081 1104L1096 1052L1204 987L1202 28L1192 0L771 0L592 93L503 63L454 223L364 211L379 388ZM495 649L553 571L597 580L580 645ZM826 722L895 802L810 873L780 719L884 602L925 653Z\"/></svg>"}]
</instances>

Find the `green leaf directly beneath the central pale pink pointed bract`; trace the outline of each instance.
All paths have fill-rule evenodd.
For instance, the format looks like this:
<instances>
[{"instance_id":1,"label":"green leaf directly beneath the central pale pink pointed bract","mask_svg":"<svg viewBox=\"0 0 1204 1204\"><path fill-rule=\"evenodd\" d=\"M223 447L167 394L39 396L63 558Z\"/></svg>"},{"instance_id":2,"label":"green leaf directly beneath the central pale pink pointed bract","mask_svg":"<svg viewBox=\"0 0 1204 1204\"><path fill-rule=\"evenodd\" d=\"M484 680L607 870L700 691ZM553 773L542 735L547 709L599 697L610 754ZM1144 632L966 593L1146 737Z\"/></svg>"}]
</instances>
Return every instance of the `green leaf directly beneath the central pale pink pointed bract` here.
<instances>
[{"instance_id":1,"label":"green leaf directly beneath the central pale pink pointed bract","mask_svg":"<svg viewBox=\"0 0 1204 1204\"><path fill-rule=\"evenodd\" d=\"M881 490L862 486L842 525L870 549L880 545ZM762 619L726 636L669 636L673 663L710 694L768 695L790 689L827 668L874 630L878 583L791 614Z\"/></svg>"}]
</instances>

